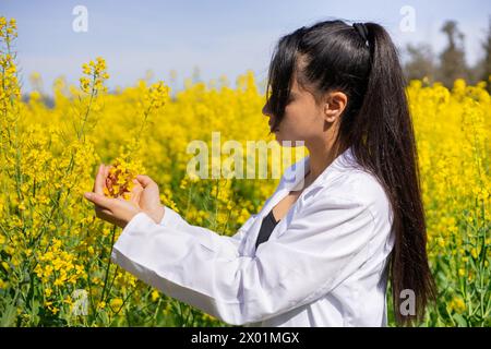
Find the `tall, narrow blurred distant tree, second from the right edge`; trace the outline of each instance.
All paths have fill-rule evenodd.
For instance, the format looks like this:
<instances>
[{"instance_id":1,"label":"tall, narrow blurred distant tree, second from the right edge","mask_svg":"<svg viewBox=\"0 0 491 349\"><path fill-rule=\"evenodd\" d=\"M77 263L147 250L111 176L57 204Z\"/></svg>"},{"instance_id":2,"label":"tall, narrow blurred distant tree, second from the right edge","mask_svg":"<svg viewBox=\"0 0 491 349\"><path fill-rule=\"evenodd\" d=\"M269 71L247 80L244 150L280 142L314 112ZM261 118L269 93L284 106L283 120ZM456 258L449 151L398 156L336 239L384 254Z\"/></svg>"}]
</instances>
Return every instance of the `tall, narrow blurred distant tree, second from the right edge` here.
<instances>
[{"instance_id":1,"label":"tall, narrow blurred distant tree, second from the right edge","mask_svg":"<svg viewBox=\"0 0 491 349\"><path fill-rule=\"evenodd\" d=\"M438 80L446 87L452 87L456 79L469 79L464 50L464 34L457 28L457 22L446 21L442 32L448 38L448 46L440 55Z\"/></svg>"}]
</instances>

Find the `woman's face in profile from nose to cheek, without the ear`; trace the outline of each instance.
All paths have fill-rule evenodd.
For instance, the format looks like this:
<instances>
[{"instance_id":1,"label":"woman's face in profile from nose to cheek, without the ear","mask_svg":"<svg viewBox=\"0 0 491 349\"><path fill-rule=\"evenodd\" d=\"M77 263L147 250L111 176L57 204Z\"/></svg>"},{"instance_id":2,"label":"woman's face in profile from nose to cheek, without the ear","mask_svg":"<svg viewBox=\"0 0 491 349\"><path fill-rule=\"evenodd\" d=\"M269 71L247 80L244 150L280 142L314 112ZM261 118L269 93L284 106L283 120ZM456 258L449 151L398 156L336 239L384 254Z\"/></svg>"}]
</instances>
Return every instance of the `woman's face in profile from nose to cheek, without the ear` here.
<instances>
[{"instance_id":1,"label":"woman's face in profile from nose to cheek, without the ear","mask_svg":"<svg viewBox=\"0 0 491 349\"><path fill-rule=\"evenodd\" d=\"M272 115L266 104L263 107L263 115L270 118L270 128L275 121L275 116ZM315 104L315 99L311 93L302 89L294 79L290 91L290 99L285 108L285 116L278 125L278 129L273 131L276 135L276 141L280 144L283 141L309 142L310 140L322 137L324 131L324 113L323 107Z\"/></svg>"}]
</instances>

